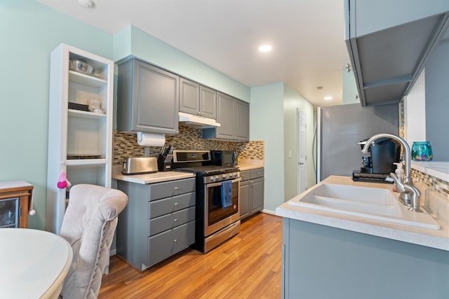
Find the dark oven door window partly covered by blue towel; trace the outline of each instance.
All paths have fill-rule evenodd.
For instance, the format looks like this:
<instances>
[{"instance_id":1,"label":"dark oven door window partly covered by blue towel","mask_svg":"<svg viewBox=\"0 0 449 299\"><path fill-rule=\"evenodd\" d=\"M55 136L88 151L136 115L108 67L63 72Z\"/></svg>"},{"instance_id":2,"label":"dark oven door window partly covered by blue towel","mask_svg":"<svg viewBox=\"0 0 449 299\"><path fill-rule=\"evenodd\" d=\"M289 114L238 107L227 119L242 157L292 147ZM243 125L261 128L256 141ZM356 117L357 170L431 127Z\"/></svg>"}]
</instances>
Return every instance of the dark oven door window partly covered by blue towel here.
<instances>
[{"instance_id":1,"label":"dark oven door window partly covered by blue towel","mask_svg":"<svg viewBox=\"0 0 449 299\"><path fill-rule=\"evenodd\" d=\"M232 204L231 207L226 207L225 209L222 206L222 186L218 185L207 188L207 221L209 226L233 214L239 213L239 183L239 181L232 183Z\"/></svg>"}]
</instances>

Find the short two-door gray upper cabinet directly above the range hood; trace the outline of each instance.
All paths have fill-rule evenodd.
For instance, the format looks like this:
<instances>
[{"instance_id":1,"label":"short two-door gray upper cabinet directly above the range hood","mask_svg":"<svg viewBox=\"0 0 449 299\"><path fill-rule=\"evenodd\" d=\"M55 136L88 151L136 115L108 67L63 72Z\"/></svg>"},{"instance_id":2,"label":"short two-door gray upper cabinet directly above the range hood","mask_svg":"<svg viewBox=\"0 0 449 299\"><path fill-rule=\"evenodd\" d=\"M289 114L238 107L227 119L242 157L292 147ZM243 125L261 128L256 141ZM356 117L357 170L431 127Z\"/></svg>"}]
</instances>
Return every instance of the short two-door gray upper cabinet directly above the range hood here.
<instances>
[{"instance_id":1,"label":"short two-door gray upper cabinet directly above the range hood","mask_svg":"<svg viewBox=\"0 0 449 299\"><path fill-rule=\"evenodd\" d=\"M217 91L180 78L180 112L217 119Z\"/></svg>"}]
</instances>

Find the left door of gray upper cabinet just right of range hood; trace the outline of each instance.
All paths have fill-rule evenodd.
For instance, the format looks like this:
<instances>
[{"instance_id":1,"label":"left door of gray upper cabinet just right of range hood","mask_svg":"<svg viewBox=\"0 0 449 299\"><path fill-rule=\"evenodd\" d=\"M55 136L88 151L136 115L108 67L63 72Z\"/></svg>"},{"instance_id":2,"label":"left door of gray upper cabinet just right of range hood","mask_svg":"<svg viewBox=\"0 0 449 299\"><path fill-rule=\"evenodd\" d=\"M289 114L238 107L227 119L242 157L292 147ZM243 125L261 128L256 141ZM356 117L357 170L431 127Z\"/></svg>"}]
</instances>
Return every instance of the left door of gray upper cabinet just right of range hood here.
<instances>
[{"instance_id":1,"label":"left door of gray upper cabinet just right of range hood","mask_svg":"<svg viewBox=\"0 0 449 299\"><path fill-rule=\"evenodd\" d=\"M224 95L221 92L217 92L217 123L220 123L220 127L217 127L217 139L229 139L234 140L235 130L235 116L234 106L236 100L229 95Z\"/></svg>"}]
</instances>

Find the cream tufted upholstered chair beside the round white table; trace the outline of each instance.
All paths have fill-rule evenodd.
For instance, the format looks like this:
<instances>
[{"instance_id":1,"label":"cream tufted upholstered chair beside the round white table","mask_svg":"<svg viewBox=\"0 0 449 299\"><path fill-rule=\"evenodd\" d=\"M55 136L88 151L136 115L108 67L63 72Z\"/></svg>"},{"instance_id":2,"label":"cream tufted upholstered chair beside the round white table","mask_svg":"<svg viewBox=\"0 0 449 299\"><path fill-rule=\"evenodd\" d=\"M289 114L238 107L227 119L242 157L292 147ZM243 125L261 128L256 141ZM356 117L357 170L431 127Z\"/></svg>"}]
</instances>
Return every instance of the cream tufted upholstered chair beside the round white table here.
<instances>
[{"instance_id":1,"label":"cream tufted upholstered chair beside the round white table","mask_svg":"<svg viewBox=\"0 0 449 299\"><path fill-rule=\"evenodd\" d=\"M61 237L73 249L73 262L62 286L62 298L97 298L109 259L117 216L128 204L120 190L79 184L70 189Z\"/></svg>"}]
</instances>

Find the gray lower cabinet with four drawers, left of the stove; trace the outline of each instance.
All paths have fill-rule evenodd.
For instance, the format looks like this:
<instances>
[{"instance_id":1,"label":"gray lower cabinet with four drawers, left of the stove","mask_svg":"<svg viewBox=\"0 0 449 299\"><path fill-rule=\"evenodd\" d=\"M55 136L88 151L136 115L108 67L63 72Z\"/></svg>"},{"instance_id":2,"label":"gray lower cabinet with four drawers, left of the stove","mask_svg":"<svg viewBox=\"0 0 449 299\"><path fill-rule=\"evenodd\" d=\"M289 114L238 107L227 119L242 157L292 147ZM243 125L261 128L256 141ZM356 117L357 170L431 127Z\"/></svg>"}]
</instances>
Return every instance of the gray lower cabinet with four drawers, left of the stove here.
<instances>
[{"instance_id":1,"label":"gray lower cabinet with four drawers, left of the stove","mask_svg":"<svg viewBox=\"0 0 449 299\"><path fill-rule=\"evenodd\" d=\"M128 195L119 215L117 255L145 270L195 242L195 179L140 184L117 181Z\"/></svg>"}]
</instances>

